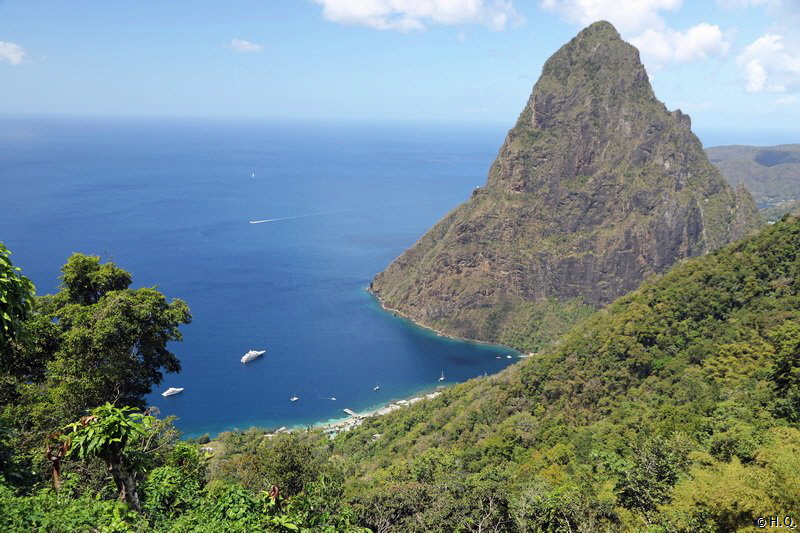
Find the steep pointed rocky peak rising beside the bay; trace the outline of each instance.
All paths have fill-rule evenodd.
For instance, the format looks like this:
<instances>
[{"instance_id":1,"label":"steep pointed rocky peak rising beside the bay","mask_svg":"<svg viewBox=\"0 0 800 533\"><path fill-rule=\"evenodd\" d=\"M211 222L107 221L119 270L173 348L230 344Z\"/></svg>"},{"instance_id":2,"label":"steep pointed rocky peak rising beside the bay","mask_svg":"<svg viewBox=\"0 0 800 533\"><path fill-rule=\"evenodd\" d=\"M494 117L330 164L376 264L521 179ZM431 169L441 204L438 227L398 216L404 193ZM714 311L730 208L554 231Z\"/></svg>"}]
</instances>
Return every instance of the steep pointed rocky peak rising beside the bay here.
<instances>
[{"instance_id":1,"label":"steep pointed rocky peak rising beside the bay","mask_svg":"<svg viewBox=\"0 0 800 533\"><path fill-rule=\"evenodd\" d=\"M423 325L533 349L581 309L760 224L689 117L655 98L638 51L597 22L545 63L486 187L371 288Z\"/></svg>"}]
</instances>

